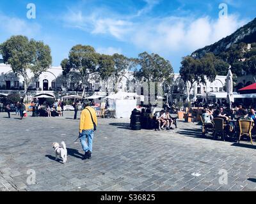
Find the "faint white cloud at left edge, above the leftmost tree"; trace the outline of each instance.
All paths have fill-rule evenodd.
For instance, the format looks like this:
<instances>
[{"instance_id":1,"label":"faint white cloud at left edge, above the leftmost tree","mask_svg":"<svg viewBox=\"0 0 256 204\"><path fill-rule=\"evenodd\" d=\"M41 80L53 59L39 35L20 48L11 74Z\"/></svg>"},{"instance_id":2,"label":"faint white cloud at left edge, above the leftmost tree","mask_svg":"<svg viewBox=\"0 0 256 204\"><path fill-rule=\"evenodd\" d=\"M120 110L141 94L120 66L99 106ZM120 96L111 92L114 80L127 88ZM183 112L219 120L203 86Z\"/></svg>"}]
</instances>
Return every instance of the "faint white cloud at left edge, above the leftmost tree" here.
<instances>
[{"instance_id":1,"label":"faint white cloud at left edge, above the leftmost tree","mask_svg":"<svg viewBox=\"0 0 256 204\"><path fill-rule=\"evenodd\" d=\"M39 24L0 14L0 31L2 34L4 33L9 36L23 34L33 38L36 34L40 33L40 29Z\"/></svg>"}]
</instances>

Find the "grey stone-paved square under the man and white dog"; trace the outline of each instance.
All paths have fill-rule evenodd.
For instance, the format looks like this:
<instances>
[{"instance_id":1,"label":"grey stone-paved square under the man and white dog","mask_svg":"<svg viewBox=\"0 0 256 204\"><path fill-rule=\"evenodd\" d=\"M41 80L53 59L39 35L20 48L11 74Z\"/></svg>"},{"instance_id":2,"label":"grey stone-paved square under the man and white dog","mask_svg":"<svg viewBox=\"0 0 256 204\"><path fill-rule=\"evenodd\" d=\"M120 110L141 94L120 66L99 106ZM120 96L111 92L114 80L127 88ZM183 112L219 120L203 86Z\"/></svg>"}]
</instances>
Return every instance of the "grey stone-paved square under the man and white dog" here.
<instances>
[{"instance_id":1,"label":"grey stone-paved square under the man and white dog","mask_svg":"<svg viewBox=\"0 0 256 204\"><path fill-rule=\"evenodd\" d=\"M0 113L0 191L252 191L256 152L200 138L200 126L178 122L172 131L131 131L128 119L99 119L92 159L82 160L79 120ZM52 142L65 141L66 164L54 161ZM35 170L36 184L27 182ZM227 184L225 184L227 170ZM224 173L223 173L224 172ZM29 177L30 178L30 177Z\"/></svg>"}]
</instances>

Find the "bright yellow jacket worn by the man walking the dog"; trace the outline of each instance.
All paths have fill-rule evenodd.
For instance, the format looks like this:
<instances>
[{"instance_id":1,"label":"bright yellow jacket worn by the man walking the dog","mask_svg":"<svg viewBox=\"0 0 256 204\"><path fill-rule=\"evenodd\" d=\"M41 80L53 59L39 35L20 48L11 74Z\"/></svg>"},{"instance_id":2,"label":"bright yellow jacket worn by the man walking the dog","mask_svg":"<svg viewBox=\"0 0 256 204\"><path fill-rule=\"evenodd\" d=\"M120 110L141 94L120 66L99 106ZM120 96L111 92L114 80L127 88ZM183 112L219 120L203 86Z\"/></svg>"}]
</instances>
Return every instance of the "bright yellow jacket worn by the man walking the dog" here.
<instances>
[{"instance_id":1,"label":"bright yellow jacket worn by the man walking the dog","mask_svg":"<svg viewBox=\"0 0 256 204\"><path fill-rule=\"evenodd\" d=\"M92 113L92 117L90 115L90 112L84 108L84 110L81 113L79 133L82 133L83 129L93 129L92 118L95 124L97 125L97 115L94 108L91 108L90 106L87 106L86 108L90 110L90 112Z\"/></svg>"}]
</instances>

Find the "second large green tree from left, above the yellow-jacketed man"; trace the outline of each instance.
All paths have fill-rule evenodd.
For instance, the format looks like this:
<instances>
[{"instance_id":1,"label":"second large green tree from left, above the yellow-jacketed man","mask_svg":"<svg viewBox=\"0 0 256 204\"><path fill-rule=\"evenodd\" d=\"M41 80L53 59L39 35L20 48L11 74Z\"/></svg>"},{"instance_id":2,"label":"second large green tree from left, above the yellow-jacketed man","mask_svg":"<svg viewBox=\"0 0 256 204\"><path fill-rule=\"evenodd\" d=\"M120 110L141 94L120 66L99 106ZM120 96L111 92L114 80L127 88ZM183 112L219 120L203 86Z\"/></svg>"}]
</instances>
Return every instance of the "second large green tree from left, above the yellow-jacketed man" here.
<instances>
[{"instance_id":1,"label":"second large green tree from left, above the yellow-jacketed man","mask_svg":"<svg viewBox=\"0 0 256 204\"><path fill-rule=\"evenodd\" d=\"M85 89L88 86L90 77L97 73L99 54L89 45L76 45L71 48L68 59L63 59L61 67L63 75L70 71L79 71L83 87L82 97L85 95Z\"/></svg>"}]
</instances>

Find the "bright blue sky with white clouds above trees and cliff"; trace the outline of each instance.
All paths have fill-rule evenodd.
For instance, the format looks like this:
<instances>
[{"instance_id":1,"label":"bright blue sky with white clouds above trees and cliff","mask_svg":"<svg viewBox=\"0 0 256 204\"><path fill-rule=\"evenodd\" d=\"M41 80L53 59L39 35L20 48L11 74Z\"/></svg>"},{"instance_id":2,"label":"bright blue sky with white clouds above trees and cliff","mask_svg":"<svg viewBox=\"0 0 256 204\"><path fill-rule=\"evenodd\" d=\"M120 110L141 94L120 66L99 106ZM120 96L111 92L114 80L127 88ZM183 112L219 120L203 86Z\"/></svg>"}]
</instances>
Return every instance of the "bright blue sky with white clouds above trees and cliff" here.
<instances>
[{"instance_id":1,"label":"bright blue sky with white clouds above trees and cliff","mask_svg":"<svg viewBox=\"0 0 256 204\"><path fill-rule=\"evenodd\" d=\"M29 3L36 6L35 19L27 18ZM228 6L225 18L220 3ZM53 66L76 44L127 57L154 52L177 73L182 57L253 20L255 6L255 0L2 0L0 43L13 34L42 40L51 47Z\"/></svg>"}]
</instances>

